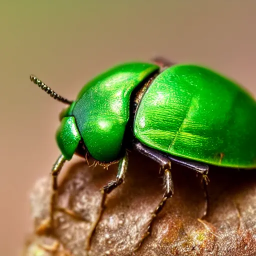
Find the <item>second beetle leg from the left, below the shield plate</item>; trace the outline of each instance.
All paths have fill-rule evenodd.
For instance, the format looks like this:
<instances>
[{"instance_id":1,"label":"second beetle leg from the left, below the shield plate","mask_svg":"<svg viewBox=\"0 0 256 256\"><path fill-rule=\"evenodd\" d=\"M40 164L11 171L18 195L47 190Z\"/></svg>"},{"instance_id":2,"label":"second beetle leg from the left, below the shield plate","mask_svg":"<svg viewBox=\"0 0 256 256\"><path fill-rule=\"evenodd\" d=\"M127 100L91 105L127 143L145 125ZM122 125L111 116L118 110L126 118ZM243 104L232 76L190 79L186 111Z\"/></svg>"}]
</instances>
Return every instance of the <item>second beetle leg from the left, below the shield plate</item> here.
<instances>
[{"instance_id":1,"label":"second beetle leg from the left, below the shield plate","mask_svg":"<svg viewBox=\"0 0 256 256\"><path fill-rule=\"evenodd\" d=\"M126 153L119 161L118 171L117 171L115 180L108 182L106 185L104 185L100 189L100 191L102 193L101 202L100 202L100 211L99 211L96 221L94 222L94 224L91 227L90 234L88 235L87 244L85 246L87 250L89 250L89 248L90 248L92 235L95 232L96 226L103 214L103 211L105 208L106 195L109 194L114 188L118 187L120 184L123 183L127 167L128 167L128 155Z\"/></svg>"}]
</instances>

